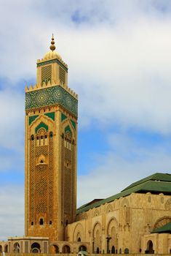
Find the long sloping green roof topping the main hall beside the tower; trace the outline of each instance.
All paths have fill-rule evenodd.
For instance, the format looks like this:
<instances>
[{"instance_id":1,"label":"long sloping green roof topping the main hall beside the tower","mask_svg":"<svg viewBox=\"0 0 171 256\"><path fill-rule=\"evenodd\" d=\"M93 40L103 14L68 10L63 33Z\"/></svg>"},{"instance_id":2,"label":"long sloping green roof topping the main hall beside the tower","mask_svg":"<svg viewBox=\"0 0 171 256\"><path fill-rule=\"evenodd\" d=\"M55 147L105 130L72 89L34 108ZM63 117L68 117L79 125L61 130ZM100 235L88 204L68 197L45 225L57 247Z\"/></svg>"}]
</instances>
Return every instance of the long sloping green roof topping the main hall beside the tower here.
<instances>
[{"instance_id":1,"label":"long sloping green roof topping the main hall beside the tower","mask_svg":"<svg viewBox=\"0 0 171 256\"><path fill-rule=\"evenodd\" d=\"M155 173L154 175L143 178L140 181L137 181L131 184L126 189L122 190L122 192L112 195L111 197L107 197L106 199L100 200L96 203L92 204L84 204L77 209L76 214L81 214L81 212L89 211L92 208L101 206L105 203L110 203L115 199L119 199L120 197L125 197L130 195L133 192L136 193L146 193L151 192L154 194L164 193L167 195L171 195L171 175L164 173Z\"/></svg>"}]
</instances>

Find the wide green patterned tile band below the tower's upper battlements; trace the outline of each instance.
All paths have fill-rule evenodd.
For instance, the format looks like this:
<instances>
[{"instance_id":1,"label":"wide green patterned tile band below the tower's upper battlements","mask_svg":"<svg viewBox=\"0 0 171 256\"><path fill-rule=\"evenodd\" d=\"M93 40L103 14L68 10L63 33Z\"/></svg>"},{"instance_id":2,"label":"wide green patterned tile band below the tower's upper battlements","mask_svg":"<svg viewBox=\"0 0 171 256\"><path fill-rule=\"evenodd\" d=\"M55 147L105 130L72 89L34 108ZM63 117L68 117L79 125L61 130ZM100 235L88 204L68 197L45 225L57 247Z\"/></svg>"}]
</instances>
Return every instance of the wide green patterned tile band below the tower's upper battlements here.
<instances>
[{"instance_id":1,"label":"wide green patterned tile band below the tower's upper battlements","mask_svg":"<svg viewBox=\"0 0 171 256\"><path fill-rule=\"evenodd\" d=\"M25 110L49 105L61 105L73 116L78 116L78 100L61 86L52 86L25 93Z\"/></svg>"}]
</instances>

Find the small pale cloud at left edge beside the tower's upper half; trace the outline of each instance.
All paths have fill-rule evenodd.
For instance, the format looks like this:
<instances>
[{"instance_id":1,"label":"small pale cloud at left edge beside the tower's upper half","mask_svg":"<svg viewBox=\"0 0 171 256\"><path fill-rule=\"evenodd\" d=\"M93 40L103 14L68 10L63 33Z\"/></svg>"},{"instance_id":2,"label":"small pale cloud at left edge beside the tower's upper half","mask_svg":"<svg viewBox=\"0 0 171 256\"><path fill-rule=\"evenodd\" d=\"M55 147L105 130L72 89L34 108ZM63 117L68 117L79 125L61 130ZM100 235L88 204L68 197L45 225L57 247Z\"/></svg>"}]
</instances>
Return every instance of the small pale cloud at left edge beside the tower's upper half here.
<instances>
[{"instance_id":1,"label":"small pale cloud at left edge beside the tower's upper half","mask_svg":"<svg viewBox=\"0 0 171 256\"><path fill-rule=\"evenodd\" d=\"M0 91L0 141L1 148L23 151L24 146L24 96L20 91Z\"/></svg>"}]
</instances>

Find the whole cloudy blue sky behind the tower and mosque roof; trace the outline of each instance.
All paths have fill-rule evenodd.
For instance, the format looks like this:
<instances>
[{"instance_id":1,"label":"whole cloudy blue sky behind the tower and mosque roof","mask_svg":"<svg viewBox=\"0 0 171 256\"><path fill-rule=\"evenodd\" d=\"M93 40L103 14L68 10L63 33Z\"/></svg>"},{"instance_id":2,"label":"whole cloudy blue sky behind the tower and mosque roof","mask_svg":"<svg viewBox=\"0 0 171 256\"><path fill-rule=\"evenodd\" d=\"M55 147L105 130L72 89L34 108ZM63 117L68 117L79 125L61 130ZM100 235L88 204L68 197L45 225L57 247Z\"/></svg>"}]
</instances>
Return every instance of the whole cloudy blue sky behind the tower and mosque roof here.
<instances>
[{"instance_id":1,"label":"whole cloudy blue sky behind the tower and mosque roof","mask_svg":"<svg viewBox=\"0 0 171 256\"><path fill-rule=\"evenodd\" d=\"M170 0L0 0L0 240L24 234L25 86L52 33L79 94L77 206L171 170Z\"/></svg>"}]
</instances>

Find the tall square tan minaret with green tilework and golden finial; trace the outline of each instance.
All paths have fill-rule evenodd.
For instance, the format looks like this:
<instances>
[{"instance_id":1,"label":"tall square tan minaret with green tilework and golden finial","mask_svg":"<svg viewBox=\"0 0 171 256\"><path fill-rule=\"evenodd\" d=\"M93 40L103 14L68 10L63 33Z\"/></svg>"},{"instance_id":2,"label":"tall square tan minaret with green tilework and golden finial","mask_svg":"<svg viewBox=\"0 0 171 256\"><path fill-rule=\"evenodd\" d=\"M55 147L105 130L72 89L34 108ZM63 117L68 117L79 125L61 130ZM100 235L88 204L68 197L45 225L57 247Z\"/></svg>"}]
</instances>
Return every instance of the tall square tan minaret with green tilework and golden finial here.
<instances>
[{"instance_id":1,"label":"tall square tan minaret with green tilework and golden finial","mask_svg":"<svg viewBox=\"0 0 171 256\"><path fill-rule=\"evenodd\" d=\"M77 108L52 36L36 85L25 89L25 236L63 241L75 220Z\"/></svg>"}]
</instances>

